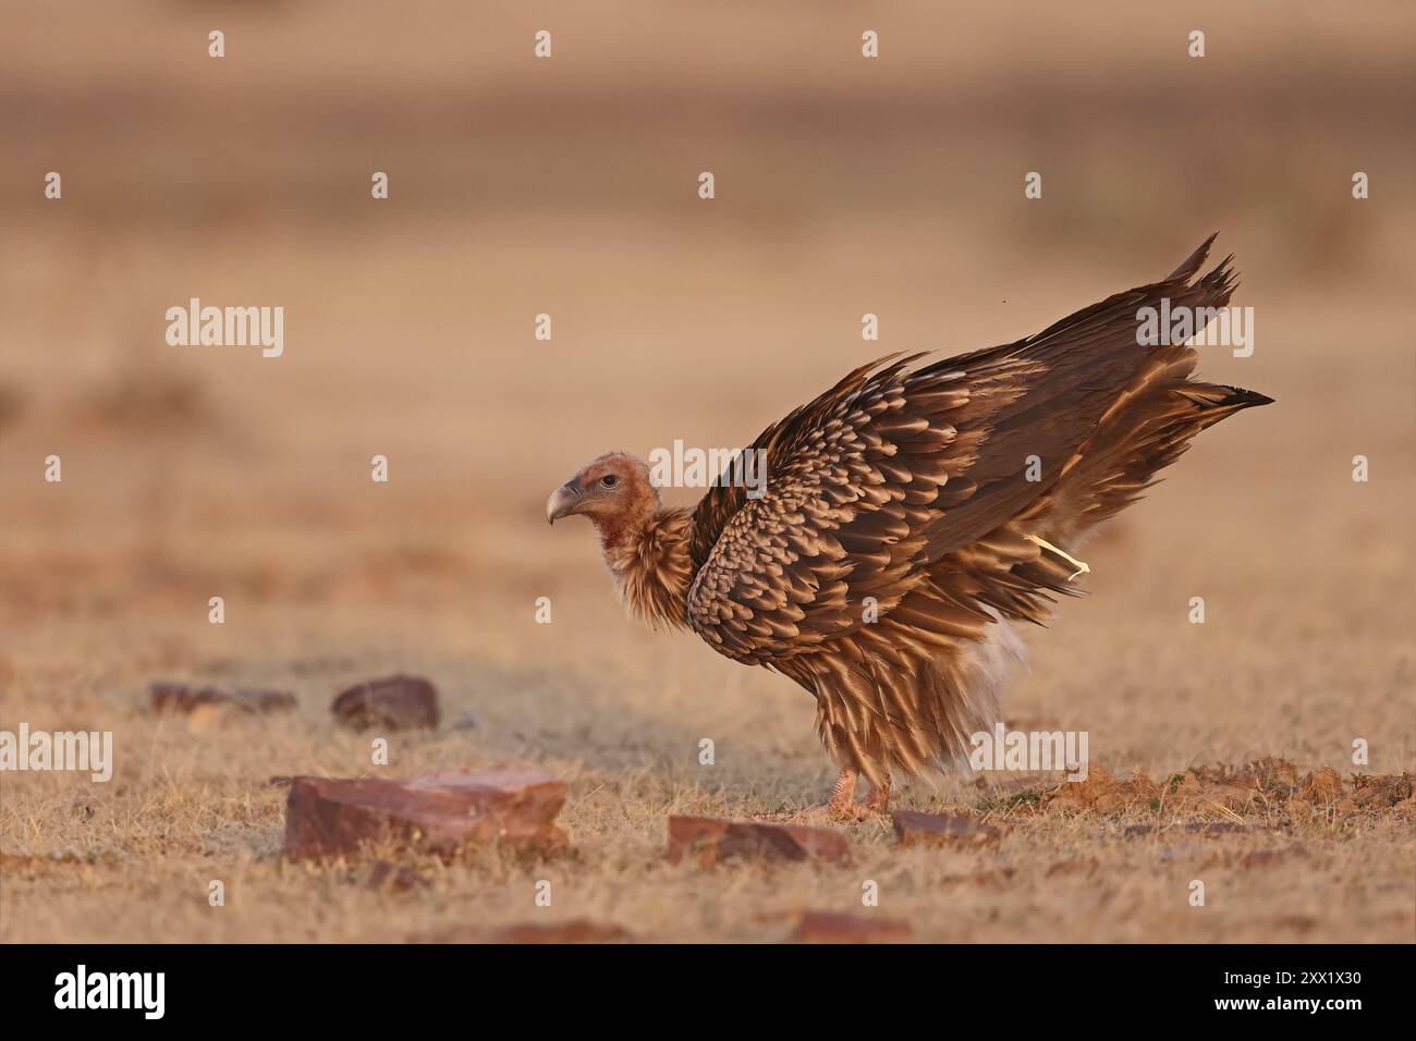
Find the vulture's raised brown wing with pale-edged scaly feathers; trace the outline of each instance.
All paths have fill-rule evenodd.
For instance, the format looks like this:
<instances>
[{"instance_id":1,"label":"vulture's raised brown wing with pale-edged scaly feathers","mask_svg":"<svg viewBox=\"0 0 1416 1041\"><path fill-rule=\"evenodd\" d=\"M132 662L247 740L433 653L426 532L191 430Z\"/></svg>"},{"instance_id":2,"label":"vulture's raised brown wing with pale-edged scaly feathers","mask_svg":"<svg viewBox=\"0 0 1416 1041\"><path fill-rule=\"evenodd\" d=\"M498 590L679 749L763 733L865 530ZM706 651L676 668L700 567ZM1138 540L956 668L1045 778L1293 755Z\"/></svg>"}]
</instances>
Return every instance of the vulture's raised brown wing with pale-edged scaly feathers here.
<instances>
[{"instance_id":1,"label":"vulture's raised brown wing with pale-edged scaly feathers","mask_svg":"<svg viewBox=\"0 0 1416 1041\"><path fill-rule=\"evenodd\" d=\"M714 487L694 511L690 625L729 657L780 663L865 625L865 598L886 618L943 558L1078 466L1107 411L1160 360L1137 343L1138 309L1161 297L1171 307L1228 302L1228 261L1189 285L1208 246L1165 280L1025 340L922 367L920 354L862 365L767 428L749 449L766 452L765 494ZM1008 567L978 574L990 571L1012 581ZM1010 602L1018 592L980 588L971 598Z\"/></svg>"}]
</instances>

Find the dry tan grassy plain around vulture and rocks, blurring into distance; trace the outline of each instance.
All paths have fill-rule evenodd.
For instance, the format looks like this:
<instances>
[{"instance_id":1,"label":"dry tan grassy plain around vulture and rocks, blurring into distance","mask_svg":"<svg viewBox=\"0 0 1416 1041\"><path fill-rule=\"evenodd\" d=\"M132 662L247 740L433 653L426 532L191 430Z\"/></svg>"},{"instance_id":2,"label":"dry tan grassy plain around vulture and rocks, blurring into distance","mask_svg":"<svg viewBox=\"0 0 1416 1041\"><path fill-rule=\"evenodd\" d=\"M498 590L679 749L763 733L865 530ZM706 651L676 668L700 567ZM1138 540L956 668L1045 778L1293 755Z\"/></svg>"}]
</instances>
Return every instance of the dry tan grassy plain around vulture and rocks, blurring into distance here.
<instances>
[{"instance_id":1,"label":"dry tan grassy plain around vulture and rocks, blurring into distance","mask_svg":"<svg viewBox=\"0 0 1416 1041\"><path fill-rule=\"evenodd\" d=\"M1416 939L1416 8L1001 7L0 3L0 728L116 758L0 775L0 940L775 940L803 909ZM606 449L743 445L877 354L1027 336L1215 229L1255 351L1201 370L1276 404L1087 547L1004 702L1086 731L1092 785L899 789L998 826L983 850L867 821L847 867L666 863L667 814L789 816L834 770L793 684L629 620L551 489ZM283 355L167 346L194 296L283 306ZM446 722L374 766L329 702L394 671ZM299 707L160 717L166 678ZM569 782L571 854L412 860L411 887L282 855L272 776L500 762Z\"/></svg>"}]
</instances>

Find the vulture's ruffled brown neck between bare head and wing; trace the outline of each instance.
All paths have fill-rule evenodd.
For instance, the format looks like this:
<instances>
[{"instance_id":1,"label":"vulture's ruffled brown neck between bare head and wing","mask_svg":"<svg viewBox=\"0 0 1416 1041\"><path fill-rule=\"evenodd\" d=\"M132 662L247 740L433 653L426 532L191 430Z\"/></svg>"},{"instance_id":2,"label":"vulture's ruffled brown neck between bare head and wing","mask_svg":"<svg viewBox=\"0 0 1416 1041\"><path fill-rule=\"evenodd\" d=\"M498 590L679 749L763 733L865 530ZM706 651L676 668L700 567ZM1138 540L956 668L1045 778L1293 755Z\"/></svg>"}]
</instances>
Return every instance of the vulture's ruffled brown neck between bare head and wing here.
<instances>
[{"instance_id":1,"label":"vulture's ruffled brown neck between bare head and wing","mask_svg":"<svg viewBox=\"0 0 1416 1041\"><path fill-rule=\"evenodd\" d=\"M598 525L620 598L654 629L688 625L688 524L687 510L656 510L643 521Z\"/></svg>"}]
</instances>

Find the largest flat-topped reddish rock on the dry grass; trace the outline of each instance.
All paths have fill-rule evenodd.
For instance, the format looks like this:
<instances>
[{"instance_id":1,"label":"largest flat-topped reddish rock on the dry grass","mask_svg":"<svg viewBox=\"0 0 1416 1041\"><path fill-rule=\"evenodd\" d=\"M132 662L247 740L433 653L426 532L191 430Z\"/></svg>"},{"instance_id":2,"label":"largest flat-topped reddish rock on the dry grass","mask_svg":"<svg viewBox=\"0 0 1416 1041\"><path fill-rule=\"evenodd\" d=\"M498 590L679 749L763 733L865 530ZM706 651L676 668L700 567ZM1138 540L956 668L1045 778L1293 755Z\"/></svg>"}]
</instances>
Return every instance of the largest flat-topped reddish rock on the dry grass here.
<instances>
[{"instance_id":1,"label":"largest flat-topped reddish rock on the dry grass","mask_svg":"<svg viewBox=\"0 0 1416 1041\"><path fill-rule=\"evenodd\" d=\"M565 782L534 770L460 770L411 780L290 778L285 850L290 857L355 854L365 843L450 857L498 843L554 850Z\"/></svg>"}]
</instances>

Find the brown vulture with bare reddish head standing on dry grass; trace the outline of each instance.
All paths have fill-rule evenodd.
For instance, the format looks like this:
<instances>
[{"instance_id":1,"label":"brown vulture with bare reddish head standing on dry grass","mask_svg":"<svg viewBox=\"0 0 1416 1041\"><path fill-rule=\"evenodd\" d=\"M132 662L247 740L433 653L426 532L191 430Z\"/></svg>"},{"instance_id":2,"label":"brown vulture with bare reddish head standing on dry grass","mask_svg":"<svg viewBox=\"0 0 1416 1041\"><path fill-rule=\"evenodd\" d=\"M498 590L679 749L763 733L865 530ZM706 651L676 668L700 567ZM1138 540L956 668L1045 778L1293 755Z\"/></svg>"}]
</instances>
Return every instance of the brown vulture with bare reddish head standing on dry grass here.
<instances>
[{"instance_id":1,"label":"brown vulture with bare reddish head standing on dry grass","mask_svg":"<svg viewBox=\"0 0 1416 1041\"><path fill-rule=\"evenodd\" d=\"M993 729L1015 625L1076 592L1087 533L1202 429L1272 401L1198 381L1192 346L1138 331L1163 300L1197 333L1229 303L1232 256L1195 278L1214 238L1017 343L861 365L745 449L762 489L725 470L694 510L666 508L646 463L612 452L547 520L595 524L632 613L804 687L840 766L830 816L884 813L892 773L966 763Z\"/></svg>"}]
</instances>

